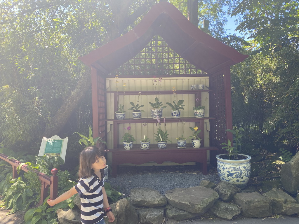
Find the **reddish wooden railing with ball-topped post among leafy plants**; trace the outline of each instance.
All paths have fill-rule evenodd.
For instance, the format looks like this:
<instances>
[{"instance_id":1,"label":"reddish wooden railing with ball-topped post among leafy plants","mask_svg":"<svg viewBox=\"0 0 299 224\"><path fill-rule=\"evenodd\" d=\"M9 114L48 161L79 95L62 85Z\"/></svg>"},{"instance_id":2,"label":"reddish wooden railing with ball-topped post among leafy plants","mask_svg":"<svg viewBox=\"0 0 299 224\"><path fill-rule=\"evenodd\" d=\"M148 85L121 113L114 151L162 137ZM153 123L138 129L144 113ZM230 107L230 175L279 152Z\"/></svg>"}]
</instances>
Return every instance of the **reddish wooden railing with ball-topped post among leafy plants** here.
<instances>
[{"instance_id":1,"label":"reddish wooden railing with ball-topped post among leafy plants","mask_svg":"<svg viewBox=\"0 0 299 224\"><path fill-rule=\"evenodd\" d=\"M0 159L3 159L4 161L8 162L12 168L13 168L13 179L18 178L19 174L17 172L17 167L21 164L20 161L16 159L8 159L7 155L0 153ZM27 164L24 164L21 166L21 169L25 172L28 172ZM36 174L38 175L42 188L41 188L41 193L40 193L40 200L39 203L37 204L42 205L44 202L45 198L48 197L48 189L50 186L50 198L55 199L57 198L57 191L58 191L58 177L56 176L58 170L57 169L52 169L51 173L53 176L49 177L46 174L43 174L41 172L38 172L35 170Z\"/></svg>"}]
</instances>

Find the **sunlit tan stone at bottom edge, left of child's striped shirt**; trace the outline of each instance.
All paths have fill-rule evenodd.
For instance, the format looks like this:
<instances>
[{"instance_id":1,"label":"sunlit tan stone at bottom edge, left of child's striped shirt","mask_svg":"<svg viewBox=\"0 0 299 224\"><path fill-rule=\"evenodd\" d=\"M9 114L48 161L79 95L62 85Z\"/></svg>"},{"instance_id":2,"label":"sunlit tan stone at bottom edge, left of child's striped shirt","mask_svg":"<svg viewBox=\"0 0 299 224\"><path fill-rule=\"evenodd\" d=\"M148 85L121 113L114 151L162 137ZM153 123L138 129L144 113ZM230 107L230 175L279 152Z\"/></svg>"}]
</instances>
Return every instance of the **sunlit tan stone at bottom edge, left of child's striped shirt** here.
<instances>
[{"instance_id":1,"label":"sunlit tan stone at bottom edge, left of child's striped shirt","mask_svg":"<svg viewBox=\"0 0 299 224\"><path fill-rule=\"evenodd\" d=\"M63 224L79 224L81 212L78 208L71 209L58 209L57 217L59 223Z\"/></svg>"}]
</instances>

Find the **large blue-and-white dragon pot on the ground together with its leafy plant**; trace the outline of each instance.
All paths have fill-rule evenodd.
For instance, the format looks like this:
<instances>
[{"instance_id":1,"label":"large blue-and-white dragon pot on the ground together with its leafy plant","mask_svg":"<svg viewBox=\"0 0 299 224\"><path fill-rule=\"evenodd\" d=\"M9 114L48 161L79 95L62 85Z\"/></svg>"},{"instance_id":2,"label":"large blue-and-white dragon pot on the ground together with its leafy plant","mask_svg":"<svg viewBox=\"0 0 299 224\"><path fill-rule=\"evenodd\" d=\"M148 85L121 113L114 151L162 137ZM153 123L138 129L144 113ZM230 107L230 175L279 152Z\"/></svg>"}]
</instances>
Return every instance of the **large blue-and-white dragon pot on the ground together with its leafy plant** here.
<instances>
[{"instance_id":1,"label":"large blue-and-white dragon pot on the ground together with its leafy plant","mask_svg":"<svg viewBox=\"0 0 299 224\"><path fill-rule=\"evenodd\" d=\"M244 129L227 129L226 131L233 134L233 141L228 139L227 143L223 142L221 144L225 145L222 149L225 149L228 153L216 156L218 175L221 181L226 181L237 185L239 188L244 188L248 183L251 173L251 157L245 154L239 154L238 151L238 146L242 145L240 139L244 136L239 132L244 132Z\"/></svg>"}]
</instances>

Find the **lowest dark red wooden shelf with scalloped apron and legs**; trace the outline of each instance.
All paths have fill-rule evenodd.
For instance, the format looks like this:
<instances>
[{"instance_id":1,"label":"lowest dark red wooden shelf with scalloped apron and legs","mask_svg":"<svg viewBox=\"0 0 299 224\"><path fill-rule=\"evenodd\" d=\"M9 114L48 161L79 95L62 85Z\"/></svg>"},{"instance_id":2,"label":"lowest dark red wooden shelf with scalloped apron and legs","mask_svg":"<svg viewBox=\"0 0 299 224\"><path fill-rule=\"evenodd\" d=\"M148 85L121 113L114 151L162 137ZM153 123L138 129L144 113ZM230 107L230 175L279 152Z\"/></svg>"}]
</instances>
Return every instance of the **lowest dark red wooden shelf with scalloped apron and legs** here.
<instances>
[{"instance_id":1,"label":"lowest dark red wooden shelf with scalloped apron and legs","mask_svg":"<svg viewBox=\"0 0 299 224\"><path fill-rule=\"evenodd\" d=\"M201 163L201 171L207 174L207 151L218 150L217 147L186 147L177 148L176 145L167 145L166 149L159 149L156 144L150 145L147 150L139 148L140 145L134 145L132 149L124 148L108 149L112 153L112 177L116 177L118 165L123 163L132 163L136 165L146 162L199 162Z\"/></svg>"}]
</instances>

